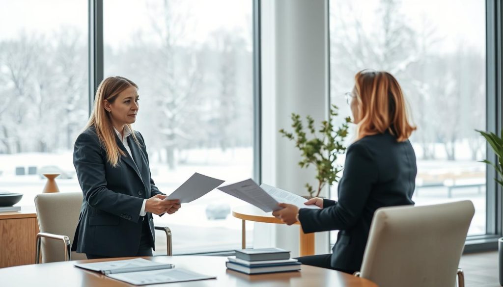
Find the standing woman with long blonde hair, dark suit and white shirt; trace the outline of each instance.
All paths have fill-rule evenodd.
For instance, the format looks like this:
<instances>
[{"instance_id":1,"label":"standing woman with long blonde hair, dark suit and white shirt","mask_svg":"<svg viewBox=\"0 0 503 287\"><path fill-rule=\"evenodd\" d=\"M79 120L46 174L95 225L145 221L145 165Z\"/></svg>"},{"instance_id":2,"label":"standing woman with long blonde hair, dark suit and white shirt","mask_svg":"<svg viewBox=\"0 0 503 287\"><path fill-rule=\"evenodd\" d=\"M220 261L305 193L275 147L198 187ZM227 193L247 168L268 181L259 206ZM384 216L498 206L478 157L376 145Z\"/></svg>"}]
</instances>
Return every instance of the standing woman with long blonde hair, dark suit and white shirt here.
<instances>
[{"instance_id":1,"label":"standing woman with long blonde hair, dark suit and white shirt","mask_svg":"<svg viewBox=\"0 0 503 287\"><path fill-rule=\"evenodd\" d=\"M173 214L181 207L178 200L166 200L150 177L145 142L131 127L138 101L131 80L104 79L75 141L73 164L83 201L71 250L89 259L152 256L152 213Z\"/></svg>"}]
</instances>

